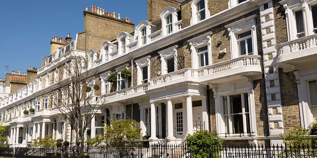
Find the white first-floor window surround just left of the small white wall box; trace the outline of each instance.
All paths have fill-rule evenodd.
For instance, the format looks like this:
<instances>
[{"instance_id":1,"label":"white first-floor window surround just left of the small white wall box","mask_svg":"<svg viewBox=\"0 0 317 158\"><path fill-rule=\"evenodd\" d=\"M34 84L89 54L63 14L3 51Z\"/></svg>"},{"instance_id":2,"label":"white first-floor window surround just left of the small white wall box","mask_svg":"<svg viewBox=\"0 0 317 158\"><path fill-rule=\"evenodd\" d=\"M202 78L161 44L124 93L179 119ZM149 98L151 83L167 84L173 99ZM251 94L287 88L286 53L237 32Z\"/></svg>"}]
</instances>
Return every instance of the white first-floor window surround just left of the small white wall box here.
<instances>
[{"instance_id":1,"label":"white first-floor window surround just left of the small white wall box","mask_svg":"<svg viewBox=\"0 0 317 158\"><path fill-rule=\"evenodd\" d=\"M199 59L198 59L198 48L202 48L204 46L208 46L208 65L212 64L212 58L211 58L211 35L212 32L205 33L203 35L200 35L198 37L195 37L191 40L188 40L187 42L191 46L191 68L198 69L200 68L199 65ZM207 65L207 66L208 66Z\"/></svg>"}]
</instances>

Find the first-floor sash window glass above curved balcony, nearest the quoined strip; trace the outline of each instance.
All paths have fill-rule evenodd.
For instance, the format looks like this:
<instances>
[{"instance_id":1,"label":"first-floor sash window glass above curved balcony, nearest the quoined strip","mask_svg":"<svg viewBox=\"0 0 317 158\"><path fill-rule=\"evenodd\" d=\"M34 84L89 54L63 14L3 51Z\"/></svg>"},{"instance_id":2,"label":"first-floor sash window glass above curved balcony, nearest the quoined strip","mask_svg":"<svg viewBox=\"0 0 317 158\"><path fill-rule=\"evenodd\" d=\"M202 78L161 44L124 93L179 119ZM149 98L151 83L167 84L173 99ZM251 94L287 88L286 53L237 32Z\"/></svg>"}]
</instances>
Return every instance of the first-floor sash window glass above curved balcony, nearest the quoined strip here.
<instances>
[{"instance_id":1,"label":"first-floor sash window glass above curved balcony, nearest the quoined strip","mask_svg":"<svg viewBox=\"0 0 317 158\"><path fill-rule=\"evenodd\" d=\"M251 31L247 31L241 34L238 34L238 46L239 46L239 55L251 55L253 54L252 48L252 34Z\"/></svg>"}]
</instances>

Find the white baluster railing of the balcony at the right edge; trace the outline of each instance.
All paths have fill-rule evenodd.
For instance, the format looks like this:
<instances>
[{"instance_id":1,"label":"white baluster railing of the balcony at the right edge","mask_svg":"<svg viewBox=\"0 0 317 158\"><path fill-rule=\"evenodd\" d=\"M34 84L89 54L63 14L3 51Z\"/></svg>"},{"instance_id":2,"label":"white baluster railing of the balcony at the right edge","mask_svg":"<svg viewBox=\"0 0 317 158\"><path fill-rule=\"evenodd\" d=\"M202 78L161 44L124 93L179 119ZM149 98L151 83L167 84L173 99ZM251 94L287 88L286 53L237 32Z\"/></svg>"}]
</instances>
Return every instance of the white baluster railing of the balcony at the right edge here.
<instances>
[{"instance_id":1,"label":"white baluster railing of the balcony at the right edge","mask_svg":"<svg viewBox=\"0 0 317 158\"><path fill-rule=\"evenodd\" d=\"M283 54L299 52L314 47L317 47L317 34L281 43L275 48L277 56L281 56Z\"/></svg>"}]
</instances>

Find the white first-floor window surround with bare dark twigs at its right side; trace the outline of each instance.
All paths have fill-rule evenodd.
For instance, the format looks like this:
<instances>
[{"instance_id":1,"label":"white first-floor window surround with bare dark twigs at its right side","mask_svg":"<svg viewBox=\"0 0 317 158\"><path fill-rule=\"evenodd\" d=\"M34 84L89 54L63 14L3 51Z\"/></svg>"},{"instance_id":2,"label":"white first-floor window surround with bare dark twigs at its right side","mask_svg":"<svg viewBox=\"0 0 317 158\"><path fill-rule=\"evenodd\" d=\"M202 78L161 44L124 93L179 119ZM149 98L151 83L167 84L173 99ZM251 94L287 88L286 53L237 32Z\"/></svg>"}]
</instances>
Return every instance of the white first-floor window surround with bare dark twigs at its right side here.
<instances>
[{"instance_id":1,"label":"white first-floor window surround with bare dark twigs at its right side","mask_svg":"<svg viewBox=\"0 0 317 158\"><path fill-rule=\"evenodd\" d=\"M174 72L177 71L177 48L178 46L171 46L165 50L159 51L159 56L161 57L161 74L167 74L167 59L174 58Z\"/></svg>"}]
</instances>

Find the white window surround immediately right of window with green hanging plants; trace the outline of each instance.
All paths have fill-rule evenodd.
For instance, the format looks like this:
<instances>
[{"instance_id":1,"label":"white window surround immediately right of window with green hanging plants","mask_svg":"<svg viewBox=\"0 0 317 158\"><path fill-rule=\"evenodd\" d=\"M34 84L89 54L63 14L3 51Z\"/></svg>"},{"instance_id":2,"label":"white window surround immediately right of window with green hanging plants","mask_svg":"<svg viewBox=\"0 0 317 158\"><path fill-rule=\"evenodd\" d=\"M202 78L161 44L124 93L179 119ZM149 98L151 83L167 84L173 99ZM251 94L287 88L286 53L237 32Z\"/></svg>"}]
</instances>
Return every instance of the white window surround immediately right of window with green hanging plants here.
<instances>
[{"instance_id":1,"label":"white window surround immediately right of window with green hanging plants","mask_svg":"<svg viewBox=\"0 0 317 158\"><path fill-rule=\"evenodd\" d=\"M147 83L150 82L150 59L151 56L146 56L144 58L135 60L135 65L137 67L137 84L141 85L143 84L143 72L142 72L142 68L147 66Z\"/></svg>"}]
</instances>

